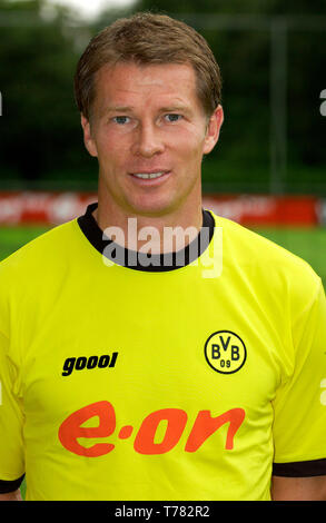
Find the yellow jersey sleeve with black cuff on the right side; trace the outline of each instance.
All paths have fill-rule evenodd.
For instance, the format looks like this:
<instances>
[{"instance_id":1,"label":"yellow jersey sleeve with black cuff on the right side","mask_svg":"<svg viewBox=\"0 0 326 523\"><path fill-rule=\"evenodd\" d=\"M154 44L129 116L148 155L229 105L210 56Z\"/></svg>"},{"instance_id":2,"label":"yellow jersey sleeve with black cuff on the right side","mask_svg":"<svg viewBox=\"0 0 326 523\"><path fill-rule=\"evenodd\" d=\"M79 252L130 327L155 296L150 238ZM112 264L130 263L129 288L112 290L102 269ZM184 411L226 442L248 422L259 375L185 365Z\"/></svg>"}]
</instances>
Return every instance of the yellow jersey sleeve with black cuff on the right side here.
<instances>
[{"instance_id":1,"label":"yellow jersey sleeve with black cuff on the right side","mask_svg":"<svg viewBox=\"0 0 326 523\"><path fill-rule=\"evenodd\" d=\"M293 373L274 402L275 475L326 475L326 299L319 278L305 300L292 326Z\"/></svg>"}]
</instances>

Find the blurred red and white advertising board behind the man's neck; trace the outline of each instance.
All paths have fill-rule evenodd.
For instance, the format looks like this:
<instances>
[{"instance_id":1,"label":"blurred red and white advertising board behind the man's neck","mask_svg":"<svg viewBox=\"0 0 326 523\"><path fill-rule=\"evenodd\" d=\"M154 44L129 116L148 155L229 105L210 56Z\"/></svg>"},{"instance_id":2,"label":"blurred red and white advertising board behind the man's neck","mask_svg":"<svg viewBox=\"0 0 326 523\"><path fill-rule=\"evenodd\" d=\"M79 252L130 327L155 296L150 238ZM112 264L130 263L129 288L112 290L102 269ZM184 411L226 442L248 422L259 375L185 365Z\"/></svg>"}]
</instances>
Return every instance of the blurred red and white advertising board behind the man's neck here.
<instances>
[{"instance_id":1,"label":"blurred red and white advertising board behind the man's neck","mask_svg":"<svg viewBox=\"0 0 326 523\"><path fill-rule=\"evenodd\" d=\"M0 193L0 225L59 225L96 200L95 193ZM313 196L205 195L204 207L241 225L315 226L325 205Z\"/></svg>"}]
</instances>

